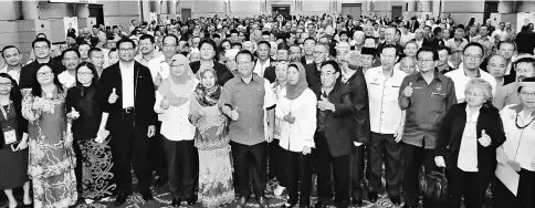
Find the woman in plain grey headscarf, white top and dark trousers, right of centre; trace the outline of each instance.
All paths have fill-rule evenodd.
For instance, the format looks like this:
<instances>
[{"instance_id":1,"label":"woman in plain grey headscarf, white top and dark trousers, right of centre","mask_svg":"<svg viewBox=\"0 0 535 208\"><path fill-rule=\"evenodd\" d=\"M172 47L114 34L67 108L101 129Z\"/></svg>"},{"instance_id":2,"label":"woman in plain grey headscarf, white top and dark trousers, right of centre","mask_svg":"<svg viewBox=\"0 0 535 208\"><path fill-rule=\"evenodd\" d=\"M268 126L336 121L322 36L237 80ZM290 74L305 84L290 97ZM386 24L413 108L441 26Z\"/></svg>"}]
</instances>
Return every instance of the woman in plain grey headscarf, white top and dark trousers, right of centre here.
<instances>
[{"instance_id":1,"label":"woman in plain grey headscarf, white top and dark trousers, right of centre","mask_svg":"<svg viewBox=\"0 0 535 208\"><path fill-rule=\"evenodd\" d=\"M284 169L289 200L284 208L294 207L297 199L301 207L308 207L311 204L311 148L314 147L316 132L317 98L307 86L305 67L298 62L290 64L286 91L281 91L275 107L275 116L283 121L280 124L279 145L284 149L281 153L283 158L286 158Z\"/></svg>"}]
</instances>

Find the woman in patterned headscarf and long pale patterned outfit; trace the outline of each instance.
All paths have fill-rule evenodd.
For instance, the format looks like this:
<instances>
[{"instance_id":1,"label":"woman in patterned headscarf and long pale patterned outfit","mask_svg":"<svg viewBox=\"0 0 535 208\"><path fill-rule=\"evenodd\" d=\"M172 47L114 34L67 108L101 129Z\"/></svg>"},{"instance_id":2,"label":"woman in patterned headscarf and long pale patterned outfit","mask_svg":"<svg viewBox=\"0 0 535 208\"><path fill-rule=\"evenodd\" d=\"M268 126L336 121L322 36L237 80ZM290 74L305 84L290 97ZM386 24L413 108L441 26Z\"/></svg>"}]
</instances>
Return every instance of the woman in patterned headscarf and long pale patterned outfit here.
<instances>
[{"instance_id":1,"label":"woman in patterned headscarf and long pale patterned outfit","mask_svg":"<svg viewBox=\"0 0 535 208\"><path fill-rule=\"evenodd\" d=\"M199 150L199 198L203 207L214 208L234 200L228 118L218 108L221 86L214 70L199 72L189 114L198 134L195 146Z\"/></svg>"}]
</instances>

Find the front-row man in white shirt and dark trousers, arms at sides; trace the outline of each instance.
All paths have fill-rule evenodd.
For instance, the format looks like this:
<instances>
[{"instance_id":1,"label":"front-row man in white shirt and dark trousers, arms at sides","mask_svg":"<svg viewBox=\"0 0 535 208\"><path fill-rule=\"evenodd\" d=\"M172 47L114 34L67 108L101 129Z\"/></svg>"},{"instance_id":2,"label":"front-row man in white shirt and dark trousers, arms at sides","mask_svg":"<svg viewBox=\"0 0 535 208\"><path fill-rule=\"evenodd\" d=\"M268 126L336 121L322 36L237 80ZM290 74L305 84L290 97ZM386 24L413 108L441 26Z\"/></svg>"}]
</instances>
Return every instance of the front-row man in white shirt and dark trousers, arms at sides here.
<instances>
[{"instance_id":1,"label":"front-row man in white shirt and dark trousers, arms at sides","mask_svg":"<svg viewBox=\"0 0 535 208\"><path fill-rule=\"evenodd\" d=\"M395 205L400 205L401 154L399 143L403 133L405 112L399 108L399 87L405 72L395 70L398 55L394 45L386 45L380 53L381 65L366 72L369 95L370 142L368 145L368 168L370 191L368 199L375 202L377 191L382 188L382 158L386 158L387 193Z\"/></svg>"}]
</instances>

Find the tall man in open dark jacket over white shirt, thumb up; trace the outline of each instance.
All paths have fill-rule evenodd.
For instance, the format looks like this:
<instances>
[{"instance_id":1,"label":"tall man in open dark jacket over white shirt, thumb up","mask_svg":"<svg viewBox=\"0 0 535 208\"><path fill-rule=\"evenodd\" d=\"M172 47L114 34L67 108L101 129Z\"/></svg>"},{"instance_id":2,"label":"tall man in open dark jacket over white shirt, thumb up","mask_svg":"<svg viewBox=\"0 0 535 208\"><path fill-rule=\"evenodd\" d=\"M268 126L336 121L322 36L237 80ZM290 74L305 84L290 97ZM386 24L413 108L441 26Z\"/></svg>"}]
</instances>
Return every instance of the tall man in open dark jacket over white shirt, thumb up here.
<instances>
[{"instance_id":1,"label":"tall man in open dark jacket over white shirt, thumb up","mask_svg":"<svg viewBox=\"0 0 535 208\"><path fill-rule=\"evenodd\" d=\"M112 135L109 146L118 190L115 206L123 205L132 194L130 165L143 199L154 199L149 189L148 137L156 133L155 85L149 69L134 61L135 48L130 39L117 42L119 61L104 70L98 85L98 101L104 113L109 114L105 128Z\"/></svg>"}]
</instances>

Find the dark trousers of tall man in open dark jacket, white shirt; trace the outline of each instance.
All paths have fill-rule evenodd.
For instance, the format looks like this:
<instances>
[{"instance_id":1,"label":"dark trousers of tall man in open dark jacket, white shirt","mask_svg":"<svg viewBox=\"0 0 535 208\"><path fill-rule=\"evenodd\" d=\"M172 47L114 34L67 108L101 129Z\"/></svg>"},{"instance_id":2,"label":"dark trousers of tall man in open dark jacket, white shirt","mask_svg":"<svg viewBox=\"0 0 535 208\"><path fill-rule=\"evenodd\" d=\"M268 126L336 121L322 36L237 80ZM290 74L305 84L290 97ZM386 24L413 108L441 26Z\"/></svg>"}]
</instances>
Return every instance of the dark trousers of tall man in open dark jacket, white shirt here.
<instances>
[{"instance_id":1,"label":"dark trousers of tall man in open dark jacket, white shirt","mask_svg":"<svg viewBox=\"0 0 535 208\"><path fill-rule=\"evenodd\" d=\"M132 193L130 164L136 174L137 188L148 193L151 180L151 165L149 163L148 126L134 126L134 114L124 114L120 129L112 132L109 146L114 162L117 190L124 194Z\"/></svg>"}]
</instances>

